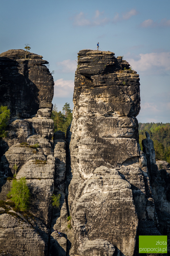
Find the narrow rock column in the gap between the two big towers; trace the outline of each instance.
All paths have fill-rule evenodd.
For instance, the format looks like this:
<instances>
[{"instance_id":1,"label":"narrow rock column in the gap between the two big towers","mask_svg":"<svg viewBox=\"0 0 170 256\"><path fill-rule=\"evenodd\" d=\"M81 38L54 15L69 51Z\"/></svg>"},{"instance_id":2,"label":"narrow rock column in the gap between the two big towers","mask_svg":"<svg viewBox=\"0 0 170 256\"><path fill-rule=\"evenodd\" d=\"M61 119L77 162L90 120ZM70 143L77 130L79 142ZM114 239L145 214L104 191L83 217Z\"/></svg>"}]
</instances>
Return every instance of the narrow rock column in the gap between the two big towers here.
<instances>
[{"instance_id":1,"label":"narrow rock column in the gap between the two big towers","mask_svg":"<svg viewBox=\"0 0 170 256\"><path fill-rule=\"evenodd\" d=\"M67 205L65 200L65 173L66 173L66 142L65 133L58 131L54 133L54 193L60 194L60 207L53 207L52 222L50 230L50 255L65 256L67 252ZM59 238L54 230L62 233Z\"/></svg>"}]
</instances>

